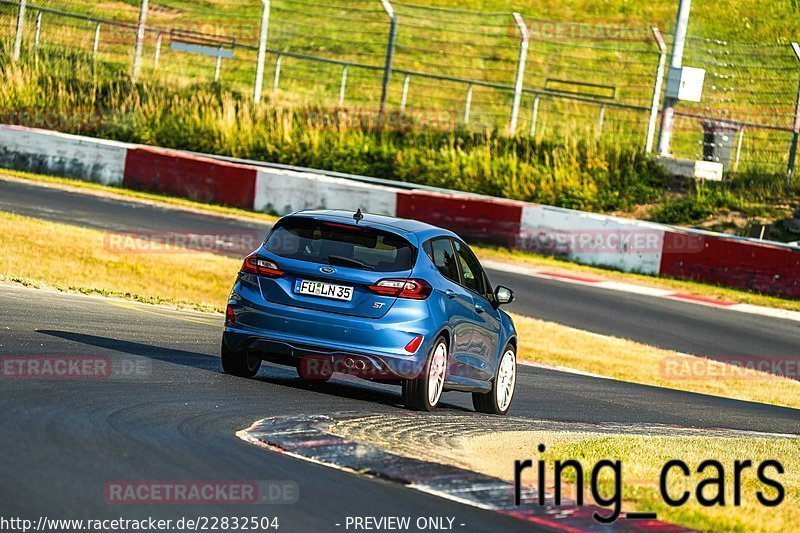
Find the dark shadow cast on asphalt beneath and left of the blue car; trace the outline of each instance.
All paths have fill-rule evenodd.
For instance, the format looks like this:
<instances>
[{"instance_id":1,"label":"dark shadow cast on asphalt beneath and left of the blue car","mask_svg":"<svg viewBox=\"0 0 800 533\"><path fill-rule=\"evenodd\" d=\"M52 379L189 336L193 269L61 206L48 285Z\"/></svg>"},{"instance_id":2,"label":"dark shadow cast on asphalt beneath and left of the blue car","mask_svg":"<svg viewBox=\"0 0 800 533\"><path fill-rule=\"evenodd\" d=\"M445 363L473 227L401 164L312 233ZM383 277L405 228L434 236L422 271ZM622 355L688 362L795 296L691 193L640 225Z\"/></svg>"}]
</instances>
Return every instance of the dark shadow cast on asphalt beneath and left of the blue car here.
<instances>
[{"instance_id":1,"label":"dark shadow cast on asphalt beneath and left of the blue car","mask_svg":"<svg viewBox=\"0 0 800 533\"><path fill-rule=\"evenodd\" d=\"M219 357L215 355L180 350L177 348L166 348L163 346L155 346L136 341L112 339L110 337L101 337L86 333L75 333L71 331L38 329L36 332L80 344L88 344L103 350L113 350L115 352L147 357L156 361L183 365L190 368L196 368L198 370L207 370L222 374L222 366L220 364ZM225 374L225 376L231 380L245 379L227 376L227 374ZM293 369L280 367L277 365L264 364L262 365L258 375L253 380L248 381L270 383L272 385L289 387L296 390L304 390L315 394L326 394L340 398L368 401L385 406L402 408L399 387L372 384L363 380L349 378L347 376L340 377L335 375L333 380L329 382L309 382L303 381L297 377L297 374ZM467 412L471 411L470 409L465 409L463 407L447 403L441 404L440 409L452 409Z\"/></svg>"}]
</instances>

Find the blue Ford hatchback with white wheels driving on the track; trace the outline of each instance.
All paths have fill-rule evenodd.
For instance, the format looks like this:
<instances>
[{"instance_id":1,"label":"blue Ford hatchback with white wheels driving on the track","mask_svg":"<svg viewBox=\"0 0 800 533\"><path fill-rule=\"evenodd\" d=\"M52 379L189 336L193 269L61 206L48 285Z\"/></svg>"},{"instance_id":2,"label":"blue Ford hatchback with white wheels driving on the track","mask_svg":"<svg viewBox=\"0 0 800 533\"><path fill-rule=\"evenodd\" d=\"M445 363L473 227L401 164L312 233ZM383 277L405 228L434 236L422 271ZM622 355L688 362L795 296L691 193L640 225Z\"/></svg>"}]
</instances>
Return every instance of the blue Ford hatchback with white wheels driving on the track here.
<instances>
[{"instance_id":1,"label":"blue Ford hatchback with white wheels driving on the track","mask_svg":"<svg viewBox=\"0 0 800 533\"><path fill-rule=\"evenodd\" d=\"M242 265L222 339L225 372L252 377L261 361L302 379L335 372L402 385L429 411L448 390L505 414L517 336L475 254L450 231L361 211L301 211L280 219Z\"/></svg>"}]
</instances>

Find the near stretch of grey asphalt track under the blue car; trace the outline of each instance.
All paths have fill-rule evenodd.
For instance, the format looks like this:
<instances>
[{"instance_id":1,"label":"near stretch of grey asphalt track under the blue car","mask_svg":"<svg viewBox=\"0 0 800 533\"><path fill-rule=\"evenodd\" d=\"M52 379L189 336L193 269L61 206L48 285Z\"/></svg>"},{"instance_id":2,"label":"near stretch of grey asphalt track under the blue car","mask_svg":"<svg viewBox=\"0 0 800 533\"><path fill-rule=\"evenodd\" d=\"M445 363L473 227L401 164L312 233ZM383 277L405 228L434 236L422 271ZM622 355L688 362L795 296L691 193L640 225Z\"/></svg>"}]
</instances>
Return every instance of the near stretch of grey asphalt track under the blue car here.
<instances>
[{"instance_id":1,"label":"near stretch of grey asphalt track under the blue car","mask_svg":"<svg viewBox=\"0 0 800 533\"><path fill-rule=\"evenodd\" d=\"M252 513L230 506L108 505L103 499L104 484L113 480L247 479L299 483L300 503L257 511L276 513L284 531L334 531L346 513L456 516L469 531L512 531L516 525L235 437L265 416L402 408L395 387L338 379L306 386L293 370L272 366L256 380L222 374L216 355L221 317L3 286L0 324L3 357L108 356L144 361L149 369L111 380L0 383L0 497L21 516ZM471 410L467 395L448 393L443 400L445 412ZM800 417L790 409L532 368L521 369L511 414L800 432Z\"/></svg>"}]
</instances>

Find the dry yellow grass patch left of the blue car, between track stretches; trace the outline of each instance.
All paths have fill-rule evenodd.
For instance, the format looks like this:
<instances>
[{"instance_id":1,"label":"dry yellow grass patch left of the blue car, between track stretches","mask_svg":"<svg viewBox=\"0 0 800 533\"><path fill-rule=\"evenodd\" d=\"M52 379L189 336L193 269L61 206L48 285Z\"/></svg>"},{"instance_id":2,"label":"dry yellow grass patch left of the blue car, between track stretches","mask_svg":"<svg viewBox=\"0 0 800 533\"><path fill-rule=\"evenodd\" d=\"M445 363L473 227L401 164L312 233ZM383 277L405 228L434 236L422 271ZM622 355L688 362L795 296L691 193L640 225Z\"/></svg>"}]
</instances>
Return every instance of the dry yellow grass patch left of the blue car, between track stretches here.
<instances>
[{"instance_id":1,"label":"dry yellow grass patch left of the blue car, between track stretches","mask_svg":"<svg viewBox=\"0 0 800 533\"><path fill-rule=\"evenodd\" d=\"M205 252L119 253L102 231L0 213L7 281L220 311L240 265Z\"/></svg>"}]
</instances>

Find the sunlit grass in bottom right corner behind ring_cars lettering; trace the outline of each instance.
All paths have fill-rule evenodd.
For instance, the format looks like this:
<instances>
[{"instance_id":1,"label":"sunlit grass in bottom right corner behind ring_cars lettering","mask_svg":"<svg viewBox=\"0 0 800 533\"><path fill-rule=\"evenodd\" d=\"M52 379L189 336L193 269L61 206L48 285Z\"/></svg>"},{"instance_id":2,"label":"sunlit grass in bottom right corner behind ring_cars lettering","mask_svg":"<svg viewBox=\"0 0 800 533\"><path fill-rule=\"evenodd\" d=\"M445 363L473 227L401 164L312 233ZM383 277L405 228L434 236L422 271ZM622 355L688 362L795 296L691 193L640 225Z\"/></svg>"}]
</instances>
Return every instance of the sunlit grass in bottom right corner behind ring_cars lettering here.
<instances>
[{"instance_id":1,"label":"sunlit grass in bottom right corner behind ring_cars lettering","mask_svg":"<svg viewBox=\"0 0 800 533\"><path fill-rule=\"evenodd\" d=\"M547 447L544 454L537 453L537 446ZM450 449L437 450L454 464L488 475L513 481L513 462L516 459L533 459L534 467L523 476L524 486L536 486L537 459L545 461L548 492L552 493L553 462L575 459L584 471L585 498L590 499L588 488L591 470L598 461L619 460L622 464L622 500L626 511L655 512L659 520L679 524L701 531L789 531L800 522L800 439L775 436L751 437L705 437L705 436L654 436L654 435L608 435L583 431L512 431L495 432L478 437L468 437ZM667 477L669 494L678 497L688 490L691 497L686 505L671 507L664 503L658 480L667 461L679 458L691 471L687 477L677 470ZM697 466L706 459L714 459L725 468L725 505L704 507L697 502L696 487L711 474L697 474ZM741 478L741 505L733 505L733 463L736 460L751 460L754 468L745 469ZM756 491L774 498L775 492L760 483L756 468L765 461L779 460L785 469L783 475L768 469L767 475L780 481L786 496L777 507L765 507L756 497ZM606 469L606 474L610 472ZM576 473L567 468L563 478L568 486L566 497L575 494ZM600 476L600 492L603 497L613 496L613 478ZM707 497L715 494L708 487ZM589 503L586 501L585 503Z\"/></svg>"}]
</instances>

